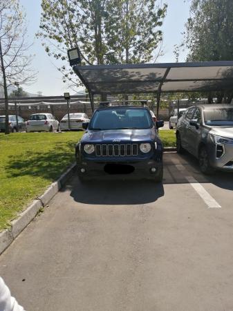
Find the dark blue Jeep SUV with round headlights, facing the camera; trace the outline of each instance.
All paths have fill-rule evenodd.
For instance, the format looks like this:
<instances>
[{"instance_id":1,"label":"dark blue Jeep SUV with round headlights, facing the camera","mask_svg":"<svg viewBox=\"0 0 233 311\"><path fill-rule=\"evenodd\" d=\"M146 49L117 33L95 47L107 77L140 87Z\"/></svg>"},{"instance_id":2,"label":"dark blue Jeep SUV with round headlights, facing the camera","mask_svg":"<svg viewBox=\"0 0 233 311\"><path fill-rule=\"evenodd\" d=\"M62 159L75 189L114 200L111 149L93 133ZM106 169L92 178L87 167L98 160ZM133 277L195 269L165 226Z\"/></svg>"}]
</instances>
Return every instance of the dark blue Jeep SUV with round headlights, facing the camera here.
<instances>
[{"instance_id":1,"label":"dark blue Jeep SUV with round headlights, facing the camera","mask_svg":"<svg viewBox=\"0 0 233 311\"><path fill-rule=\"evenodd\" d=\"M162 181L162 142L145 106L102 106L76 145L80 180L113 174Z\"/></svg>"}]
</instances>

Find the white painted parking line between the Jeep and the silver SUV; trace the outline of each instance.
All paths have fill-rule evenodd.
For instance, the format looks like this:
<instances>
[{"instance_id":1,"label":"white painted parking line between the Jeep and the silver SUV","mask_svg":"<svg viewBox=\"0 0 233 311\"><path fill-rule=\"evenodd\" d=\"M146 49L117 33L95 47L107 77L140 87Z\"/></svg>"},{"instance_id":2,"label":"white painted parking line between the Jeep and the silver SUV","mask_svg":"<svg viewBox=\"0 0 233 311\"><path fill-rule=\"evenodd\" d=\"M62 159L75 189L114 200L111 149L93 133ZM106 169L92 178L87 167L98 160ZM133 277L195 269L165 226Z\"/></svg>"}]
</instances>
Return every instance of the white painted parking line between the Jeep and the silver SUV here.
<instances>
[{"instance_id":1,"label":"white painted parking line between the Jeep and the silver SUV","mask_svg":"<svg viewBox=\"0 0 233 311\"><path fill-rule=\"evenodd\" d=\"M205 190L205 188L192 176L186 175L185 171L186 168L183 164L180 163L178 159L172 159L172 162L174 162L174 165L176 166L176 169L178 171L182 172L185 175L185 178L189 182L189 184L194 188L196 193L201 196L205 204L207 205L208 209L219 209L221 208L221 205L218 204L216 200ZM178 163L178 164L177 164Z\"/></svg>"}]
</instances>

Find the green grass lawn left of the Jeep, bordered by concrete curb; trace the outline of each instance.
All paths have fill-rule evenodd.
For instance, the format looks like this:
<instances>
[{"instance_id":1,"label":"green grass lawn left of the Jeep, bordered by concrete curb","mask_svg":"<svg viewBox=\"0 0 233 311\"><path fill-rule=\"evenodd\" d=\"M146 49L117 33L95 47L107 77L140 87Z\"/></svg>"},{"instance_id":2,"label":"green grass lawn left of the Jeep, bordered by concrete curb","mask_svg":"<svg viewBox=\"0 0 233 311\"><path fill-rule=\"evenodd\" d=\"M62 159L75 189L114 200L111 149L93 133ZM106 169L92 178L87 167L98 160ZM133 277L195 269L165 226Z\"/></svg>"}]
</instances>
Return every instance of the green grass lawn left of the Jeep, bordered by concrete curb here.
<instances>
[{"instance_id":1,"label":"green grass lawn left of the Jeep, bordered by concrete curb","mask_svg":"<svg viewBox=\"0 0 233 311\"><path fill-rule=\"evenodd\" d=\"M0 229L75 161L82 133L0 134Z\"/></svg>"}]
</instances>

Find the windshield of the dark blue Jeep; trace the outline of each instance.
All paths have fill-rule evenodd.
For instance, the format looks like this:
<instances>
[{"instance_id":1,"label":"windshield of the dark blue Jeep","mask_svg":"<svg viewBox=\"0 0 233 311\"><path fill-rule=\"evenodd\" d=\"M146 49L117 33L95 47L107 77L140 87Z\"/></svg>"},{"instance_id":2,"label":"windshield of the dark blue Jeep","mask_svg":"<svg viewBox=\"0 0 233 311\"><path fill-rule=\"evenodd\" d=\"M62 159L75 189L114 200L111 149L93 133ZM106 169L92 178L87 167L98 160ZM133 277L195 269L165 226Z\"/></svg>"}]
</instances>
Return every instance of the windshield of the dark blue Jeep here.
<instances>
[{"instance_id":1,"label":"windshield of the dark blue Jeep","mask_svg":"<svg viewBox=\"0 0 233 311\"><path fill-rule=\"evenodd\" d=\"M147 109L103 109L95 111L89 129L150 129L153 126Z\"/></svg>"}]
</instances>

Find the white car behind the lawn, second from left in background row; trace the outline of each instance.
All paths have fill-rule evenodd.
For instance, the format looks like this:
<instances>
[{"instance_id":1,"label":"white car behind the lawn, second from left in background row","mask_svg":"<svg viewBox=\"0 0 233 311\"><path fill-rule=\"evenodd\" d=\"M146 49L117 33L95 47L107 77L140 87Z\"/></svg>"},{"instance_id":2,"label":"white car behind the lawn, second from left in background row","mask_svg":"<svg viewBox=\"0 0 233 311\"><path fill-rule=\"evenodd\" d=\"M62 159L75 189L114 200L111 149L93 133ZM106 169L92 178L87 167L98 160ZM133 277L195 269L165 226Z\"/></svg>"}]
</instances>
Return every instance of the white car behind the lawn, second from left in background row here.
<instances>
[{"instance_id":1,"label":"white car behind the lawn, second from left in background row","mask_svg":"<svg viewBox=\"0 0 233 311\"><path fill-rule=\"evenodd\" d=\"M59 131L59 122L50 113L35 113L30 115L27 122L27 132Z\"/></svg>"}]
</instances>

